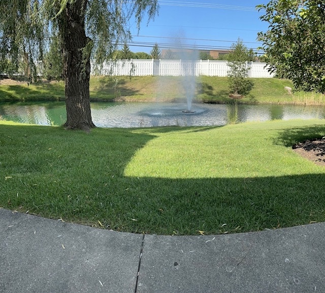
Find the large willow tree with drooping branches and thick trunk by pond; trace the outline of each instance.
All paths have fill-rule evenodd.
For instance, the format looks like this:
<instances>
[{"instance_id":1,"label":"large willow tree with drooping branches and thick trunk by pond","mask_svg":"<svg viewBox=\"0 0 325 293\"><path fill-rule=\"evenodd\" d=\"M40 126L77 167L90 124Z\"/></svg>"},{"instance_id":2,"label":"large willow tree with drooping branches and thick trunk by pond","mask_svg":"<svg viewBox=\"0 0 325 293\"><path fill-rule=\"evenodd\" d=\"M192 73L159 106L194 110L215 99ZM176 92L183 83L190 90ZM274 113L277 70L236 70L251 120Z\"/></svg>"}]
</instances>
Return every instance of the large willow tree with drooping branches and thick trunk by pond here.
<instances>
[{"instance_id":1,"label":"large willow tree with drooping branches and thick trunk by pond","mask_svg":"<svg viewBox=\"0 0 325 293\"><path fill-rule=\"evenodd\" d=\"M66 129L89 130L90 59L101 64L118 44L131 39L135 22L157 13L157 0L1 0L0 69L28 68L36 76L53 33L58 33L63 56L67 121Z\"/></svg>"}]
</instances>

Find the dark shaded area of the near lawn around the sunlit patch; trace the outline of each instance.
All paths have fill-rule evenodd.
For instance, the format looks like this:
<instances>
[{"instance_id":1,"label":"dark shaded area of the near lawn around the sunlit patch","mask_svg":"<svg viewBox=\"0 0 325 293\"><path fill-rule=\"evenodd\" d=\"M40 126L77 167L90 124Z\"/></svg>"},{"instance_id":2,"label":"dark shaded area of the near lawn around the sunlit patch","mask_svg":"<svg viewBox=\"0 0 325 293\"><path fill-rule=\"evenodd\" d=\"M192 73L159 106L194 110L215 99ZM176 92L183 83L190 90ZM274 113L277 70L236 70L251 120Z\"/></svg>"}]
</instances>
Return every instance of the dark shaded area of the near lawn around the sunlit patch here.
<instances>
[{"instance_id":1,"label":"dark shaded area of the near lawn around the sunlit patch","mask_svg":"<svg viewBox=\"0 0 325 293\"><path fill-rule=\"evenodd\" d=\"M315 133L322 129L310 127ZM289 143L303 132L306 128L283 133L281 142ZM55 127L2 125L0 171L7 179L0 206L87 225L100 222L118 231L167 235L325 221L325 173L319 169L315 174L253 178L125 176L125 167L155 139L154 133L157 129L94 129L67 135Z\"/></svg>"}]
</instances>

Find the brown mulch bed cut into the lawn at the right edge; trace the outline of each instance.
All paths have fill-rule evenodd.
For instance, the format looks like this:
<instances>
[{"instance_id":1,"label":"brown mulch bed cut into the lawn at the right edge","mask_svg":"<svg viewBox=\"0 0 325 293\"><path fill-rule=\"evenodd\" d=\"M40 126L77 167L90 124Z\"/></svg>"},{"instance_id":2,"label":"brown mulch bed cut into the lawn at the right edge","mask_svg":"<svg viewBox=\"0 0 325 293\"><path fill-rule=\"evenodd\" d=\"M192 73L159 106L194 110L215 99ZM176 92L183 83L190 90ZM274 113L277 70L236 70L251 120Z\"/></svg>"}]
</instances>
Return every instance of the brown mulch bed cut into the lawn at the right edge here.
<instances>
[{"instance_id":1,"label":"brown mulch bed cut into the lawn at the right edge","mask_svg":"<svg viewBox=\"0 0 325 293\"><path fill-rule=\"evenodd\" d=\"M299 142L293 146L294 151L313 161L317 165L325 166L325 139L314 139Z\"/></svg>"}]
</instances>

